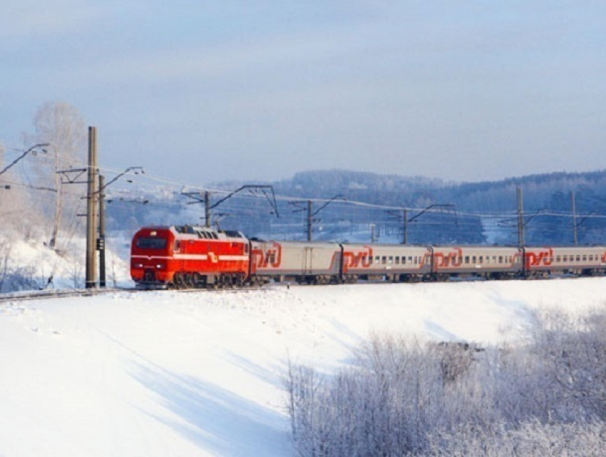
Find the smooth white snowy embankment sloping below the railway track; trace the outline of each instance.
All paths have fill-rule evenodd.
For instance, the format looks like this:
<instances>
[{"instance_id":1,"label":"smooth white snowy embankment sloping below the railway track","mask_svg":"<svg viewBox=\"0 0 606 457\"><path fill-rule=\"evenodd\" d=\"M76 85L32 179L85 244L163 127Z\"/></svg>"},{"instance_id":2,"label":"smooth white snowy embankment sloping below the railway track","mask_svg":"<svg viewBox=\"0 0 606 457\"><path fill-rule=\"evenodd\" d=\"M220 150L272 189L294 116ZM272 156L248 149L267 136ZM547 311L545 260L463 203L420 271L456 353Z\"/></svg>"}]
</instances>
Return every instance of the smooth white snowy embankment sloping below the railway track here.
<instances>
[{"instance_id":1,"label":"smooth white snowy embankment sloping below the railway track","mask_svg":"<svg viewBox=\"0 0 606 457\"><path fill-rule=\"evenodd\" d=\"M0 305L0 456L291 456L287 359L331 372L373 332L515 341L606 278L116 292Z\"/></svg>"}]
</instances>

